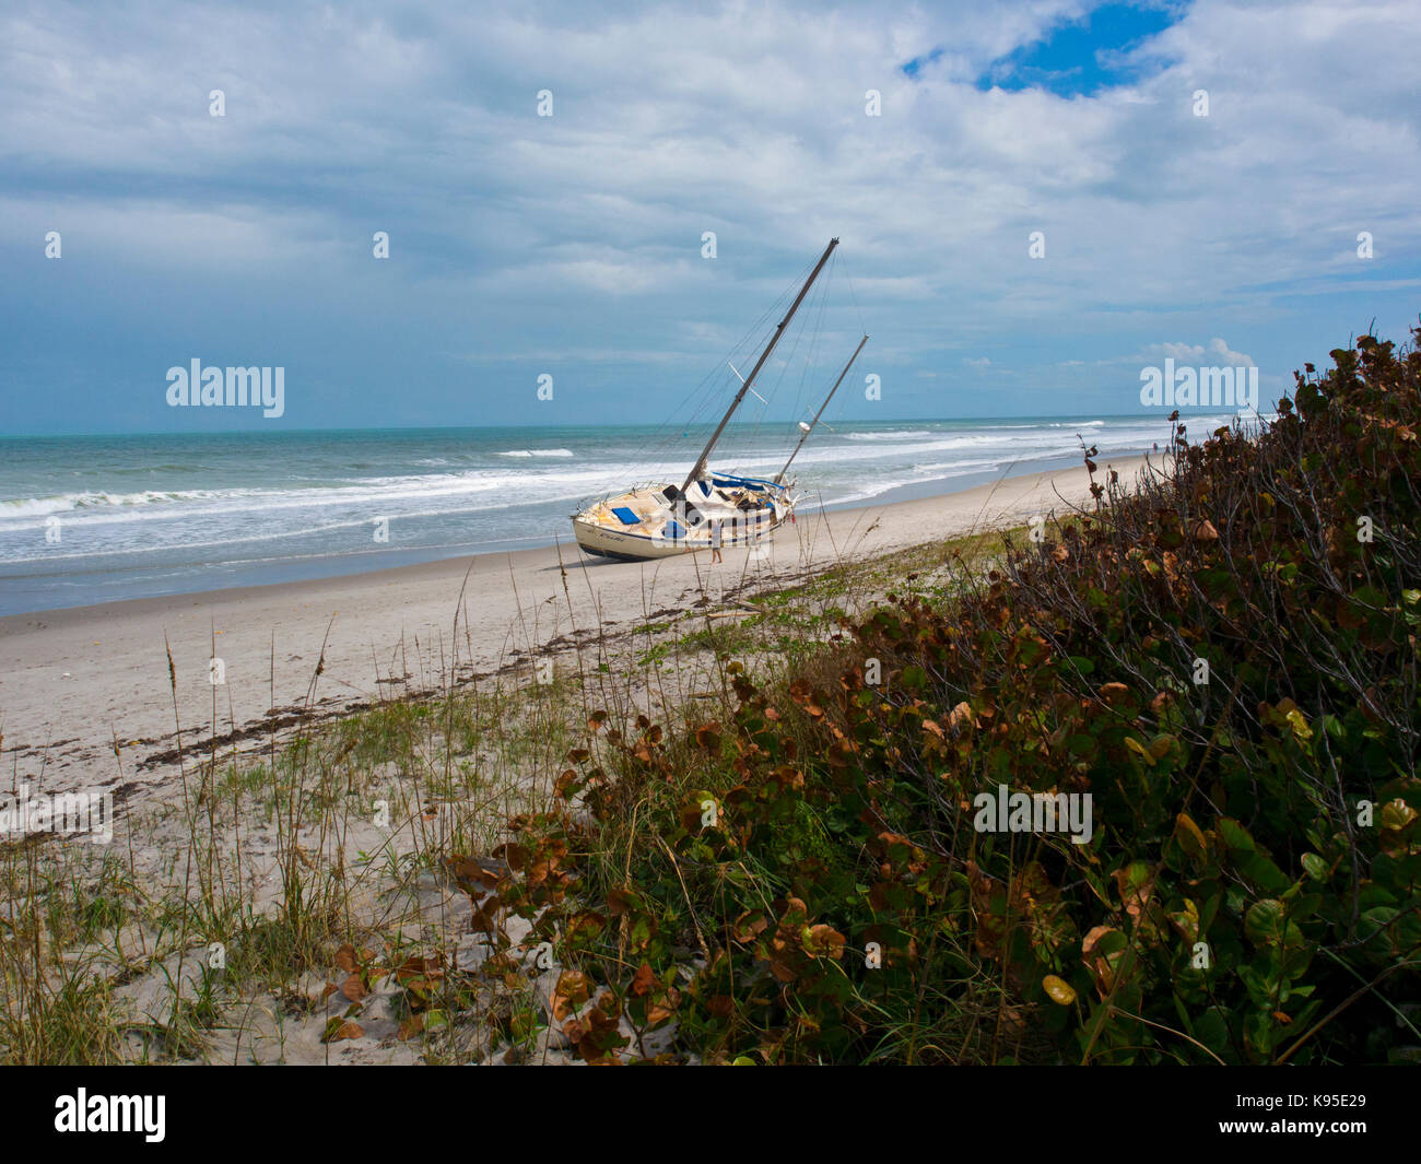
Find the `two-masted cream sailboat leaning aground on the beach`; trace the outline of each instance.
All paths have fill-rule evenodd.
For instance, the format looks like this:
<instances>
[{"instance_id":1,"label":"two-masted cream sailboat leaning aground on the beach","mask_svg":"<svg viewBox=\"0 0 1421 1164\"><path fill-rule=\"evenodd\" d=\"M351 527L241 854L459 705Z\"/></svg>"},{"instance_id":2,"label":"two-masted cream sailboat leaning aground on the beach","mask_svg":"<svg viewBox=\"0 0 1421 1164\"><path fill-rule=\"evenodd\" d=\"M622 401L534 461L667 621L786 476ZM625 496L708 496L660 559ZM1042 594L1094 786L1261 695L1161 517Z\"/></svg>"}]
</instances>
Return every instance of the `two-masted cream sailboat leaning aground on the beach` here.
<instances>
[{"instance_id":1,"label":"two-masted cream sailboat leaning aground on the beach","mask_svg":"<svg viewBox=\"0 0 1421 1164\"><path fill-rule=\"evenodd\" d=\"M735 399L730 401L730 406L725 411L720 424L710 433L710 439L685 479L679 485L657 482L635 486L624 493L608 495L573 514L573 533L577 537L577 544L585 553L638 561L695 553L712 549L712 546L757 546L762 539L793 517L799 495L794 492L794 482L789 479L790 466L800 449L804 448L804 442L814 431L820 416L824 415L824 409L828 408L838 385L844 382L848 370L858 360L858 352L868 343L867 335L858 341L858 347L838 374L838 379L834 381L834 387L824 398L818 412L814 414L814 419L809 424L799 422L799 442L779 473L773 478L718 473L710 469L710 453L736 409L746 395L753 392L756 377L784 335L790 320L794 318L794 313L799 311L810 287L814 286L814 280L824 270L836 246L838 246L838 239L830 239L784 318L776 325L774 334L770 335L764 350L755 361L750 374L740 377L736 372L736 377L740 377L740 391L735 394Z\"/></svg>"}]
</instances>

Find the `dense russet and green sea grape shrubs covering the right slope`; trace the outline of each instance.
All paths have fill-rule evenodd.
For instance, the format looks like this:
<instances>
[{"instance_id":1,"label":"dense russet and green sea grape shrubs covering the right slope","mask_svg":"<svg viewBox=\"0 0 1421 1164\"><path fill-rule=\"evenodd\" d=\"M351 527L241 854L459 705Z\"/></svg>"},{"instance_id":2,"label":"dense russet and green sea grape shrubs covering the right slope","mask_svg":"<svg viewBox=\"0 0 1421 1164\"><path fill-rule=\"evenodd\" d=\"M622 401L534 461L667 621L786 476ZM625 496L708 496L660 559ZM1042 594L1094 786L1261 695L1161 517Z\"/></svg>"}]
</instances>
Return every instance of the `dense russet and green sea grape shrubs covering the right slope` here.
<instances>
[{"instance_id":1,"label":"dense russet and green sea grape shrubs covering the right slope","mask_svg":"<svg viewBox=\"0 0 1421 1164\"><path fill-rule=\"evenodd\" d=\"M587 1056L1421 1057L1418 340L875 610L837 682L735 674L732 723L669 738L594 718L520 823L576 888L506 893L603 999ZM1088 794L1088 840L979 831L1003 786Z\"/></svg>"}]
</instances>

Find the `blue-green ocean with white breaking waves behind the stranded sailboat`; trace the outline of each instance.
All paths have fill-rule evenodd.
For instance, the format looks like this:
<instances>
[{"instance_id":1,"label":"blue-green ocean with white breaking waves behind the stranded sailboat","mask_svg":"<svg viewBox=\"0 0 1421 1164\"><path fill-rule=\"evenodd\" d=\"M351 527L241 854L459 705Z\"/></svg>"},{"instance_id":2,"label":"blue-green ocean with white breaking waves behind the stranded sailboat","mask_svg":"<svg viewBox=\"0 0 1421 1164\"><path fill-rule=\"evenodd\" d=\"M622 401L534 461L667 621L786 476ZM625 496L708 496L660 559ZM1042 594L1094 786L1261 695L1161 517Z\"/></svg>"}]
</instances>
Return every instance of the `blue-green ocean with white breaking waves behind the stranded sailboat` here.
<instances>
[{"instance_id":1,"label":"blue-green ocean with white breaking waves behind the stranded sailboat","mask_svg":"<svg viewBox=\"0 0 1421 1164\"><path fill-rule=\"evenodd\" d=\"M1192 435L1228 416L1189 418ZM1162 416L838 421L794 462L800 512L966 489L1169 439ZM0 614L280 583L568 541L584 499L676 479L665 426L0 439ZM732 425L712 465L773 476L793 424ZM576 546L568 549L577 556Z\"/></svg>"}]
</instances>

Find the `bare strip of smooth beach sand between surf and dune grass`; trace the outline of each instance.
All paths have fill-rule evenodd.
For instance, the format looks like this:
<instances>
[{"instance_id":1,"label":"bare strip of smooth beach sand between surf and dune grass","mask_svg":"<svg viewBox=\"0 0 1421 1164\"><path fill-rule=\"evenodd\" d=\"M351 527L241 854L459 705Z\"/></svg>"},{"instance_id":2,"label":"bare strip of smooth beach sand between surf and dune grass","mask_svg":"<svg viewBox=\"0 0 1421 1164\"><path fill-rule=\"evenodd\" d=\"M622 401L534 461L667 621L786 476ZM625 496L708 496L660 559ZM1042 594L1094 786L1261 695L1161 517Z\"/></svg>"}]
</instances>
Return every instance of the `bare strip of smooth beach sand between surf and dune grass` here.
<instances>
[{"instance_id":1,"label":"bare strip of smooth beach sand between surf and dune grass","mask_svg":"<svg viewBox=\"0 0 1421 1164\"><path fill-rule=\"evenodd\" d=\"M1117 460L1121 483L1144 458ZM1100 479L1104 479L1101 465ZM838 560L1026 523L1088 502L1083 468L961 493L804 514L764 551L654 563L556 547L368 574L139 598L0 618L4 785L112 790L129 807L172 787L189 755L261 746L303 715L534 665L705 600L783 586ZM176 696L169 685L169 655ZM210 682L212 659L225 682ZM317 664L321 672L317 677ZM546 664L543 664L546 665ZM175 706L176 705L176 706ZM115 755L114 742L118 742Z\"/></svg>"}]
</instances>

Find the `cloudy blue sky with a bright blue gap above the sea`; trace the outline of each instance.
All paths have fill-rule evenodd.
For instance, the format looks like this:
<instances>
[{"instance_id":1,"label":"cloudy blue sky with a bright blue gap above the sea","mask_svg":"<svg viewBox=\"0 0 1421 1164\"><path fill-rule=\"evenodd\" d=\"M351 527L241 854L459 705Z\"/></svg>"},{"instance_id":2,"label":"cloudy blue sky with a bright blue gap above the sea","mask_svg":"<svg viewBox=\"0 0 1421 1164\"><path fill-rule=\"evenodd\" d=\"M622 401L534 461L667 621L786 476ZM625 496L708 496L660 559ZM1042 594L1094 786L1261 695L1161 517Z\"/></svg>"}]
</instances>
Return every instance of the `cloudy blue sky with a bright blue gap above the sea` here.
<instances>
[{"instance_id":1,"label":"cloudy blue sky with a bright blue gap above the sea","mask_svg":"<svg viewBox=\"0 0 1421 1164\"><path fill-rule=\"evenodd\" d=\"M0 435L655 424L831 236L837 415L1137 414L1167 357L1266 411L1417 323L1418 43L1414 0L13 3ZM171 406L193 358L281 415Z\"/></svg>"}]
</instances>

